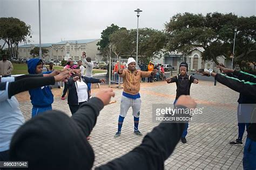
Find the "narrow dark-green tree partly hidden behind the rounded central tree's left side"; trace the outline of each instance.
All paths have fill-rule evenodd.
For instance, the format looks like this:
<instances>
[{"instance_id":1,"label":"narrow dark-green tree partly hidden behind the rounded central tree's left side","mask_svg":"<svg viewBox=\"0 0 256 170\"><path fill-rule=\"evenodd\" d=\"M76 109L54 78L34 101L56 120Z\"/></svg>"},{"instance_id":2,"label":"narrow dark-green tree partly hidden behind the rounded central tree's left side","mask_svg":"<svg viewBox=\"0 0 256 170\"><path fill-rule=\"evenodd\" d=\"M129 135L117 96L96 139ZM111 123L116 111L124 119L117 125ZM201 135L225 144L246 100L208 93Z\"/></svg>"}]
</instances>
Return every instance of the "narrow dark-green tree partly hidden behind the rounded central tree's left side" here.
<instances>
[{"instance_id":1,"label":"narrow dark-green tree partly hidden behind the rounded central tree's left side","mask_svg":"<svg viewBox=\"0 0 256 170\"><path fill-rule=\"evenodd\" d=\"M103 56L109 55L109 43L110 43L110 35L118 30L123 30L125 29L124 27L119 27L117 25L111 24L111 26L107 26L105 30L102 31L102 36L100 41L97 43L98 50L100 53L103 54Z\"/></svg>"}]
</instances>

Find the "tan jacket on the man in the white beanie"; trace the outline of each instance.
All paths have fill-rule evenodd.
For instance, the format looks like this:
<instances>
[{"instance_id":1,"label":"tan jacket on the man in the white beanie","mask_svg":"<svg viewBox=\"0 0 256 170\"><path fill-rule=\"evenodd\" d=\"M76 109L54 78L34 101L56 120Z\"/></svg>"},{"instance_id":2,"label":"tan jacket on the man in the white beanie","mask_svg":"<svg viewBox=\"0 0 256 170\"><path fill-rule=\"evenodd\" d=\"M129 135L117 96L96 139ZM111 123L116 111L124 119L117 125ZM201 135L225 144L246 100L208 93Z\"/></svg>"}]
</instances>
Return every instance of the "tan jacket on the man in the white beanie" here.
<instances>
[{"instance_id":1,"label":"tan jacket on the man in the white beanie","mask_svg":"<svg viewBox=\"0 0 256 170\"><path fill-rule=\"evenodd\" d=\"M133 73L131 73L130 70L124 69L123 73L119 74L119 76L123 77L124 80L124 92L131 95L138 94L140 89L140 79L143 77L149 77L150 75L151 72L135 70Z\"/></svg>"}]
</instances>

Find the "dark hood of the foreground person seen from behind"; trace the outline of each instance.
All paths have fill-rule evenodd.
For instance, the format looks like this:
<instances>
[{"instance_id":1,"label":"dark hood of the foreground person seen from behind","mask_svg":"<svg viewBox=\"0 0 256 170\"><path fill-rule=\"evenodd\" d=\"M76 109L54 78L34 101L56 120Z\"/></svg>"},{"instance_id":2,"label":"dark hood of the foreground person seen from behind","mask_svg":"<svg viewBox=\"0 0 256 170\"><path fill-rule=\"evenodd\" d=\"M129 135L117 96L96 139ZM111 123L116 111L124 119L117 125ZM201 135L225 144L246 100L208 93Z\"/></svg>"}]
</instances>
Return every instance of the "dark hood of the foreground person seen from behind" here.
<instances>
[{"instance_id":1,"label":"dark hood of the foreground person seen from behind","mask_svg":"<svg viewBox=\"0 0 256 170\"><path fill-rule=\"evenodd\" d=\"M21 126L10 144L12 161L29 169L91 169L91 145L79 126L61 111L47 111Z\"/></svg>"}]
</instances>

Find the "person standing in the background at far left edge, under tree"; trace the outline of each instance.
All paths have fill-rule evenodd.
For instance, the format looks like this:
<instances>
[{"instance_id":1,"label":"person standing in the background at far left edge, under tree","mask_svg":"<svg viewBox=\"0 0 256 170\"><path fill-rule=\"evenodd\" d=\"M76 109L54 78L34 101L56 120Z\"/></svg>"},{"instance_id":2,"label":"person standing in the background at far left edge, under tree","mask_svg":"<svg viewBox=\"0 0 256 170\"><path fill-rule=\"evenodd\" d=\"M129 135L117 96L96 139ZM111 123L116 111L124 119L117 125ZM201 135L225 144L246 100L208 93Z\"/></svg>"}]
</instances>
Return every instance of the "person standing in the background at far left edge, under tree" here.
<instances>
[{"instance_id":1,"label":"person standing in the background at far left edge, under tree","mask_svg":"<svg viewBox=\"0 0 256 170\"><path fill-rule=\"evenodd\" d=\"M0 61L0 75L3 77L10 77L12 70L14 70L11 61L7 59L8 56L3 54L3 60Z\"/></svg>"}]
</instances>

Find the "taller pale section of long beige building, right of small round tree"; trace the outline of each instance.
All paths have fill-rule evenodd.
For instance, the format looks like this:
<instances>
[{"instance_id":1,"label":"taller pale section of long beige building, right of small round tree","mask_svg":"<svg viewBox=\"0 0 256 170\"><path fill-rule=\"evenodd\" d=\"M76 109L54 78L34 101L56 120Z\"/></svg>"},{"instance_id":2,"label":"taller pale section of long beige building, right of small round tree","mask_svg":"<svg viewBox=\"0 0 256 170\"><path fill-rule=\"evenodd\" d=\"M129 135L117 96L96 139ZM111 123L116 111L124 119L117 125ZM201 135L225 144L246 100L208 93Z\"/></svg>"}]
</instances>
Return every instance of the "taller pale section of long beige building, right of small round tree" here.
<instances>
[{"instance_id":1,"label":"taller pale section of long beige building, right of small round tree","mask_svg":"<svg viewBox=\"0 0 256 170\"><path fill-rule=\"evenodd\" d=\"M82 52L86 52L92 60L97 60L99 55L98 46L96 45L100 39L87 39L87 40L66 40L52 44L53 60L82 60Z\"/></svg>"}]
</instances>

